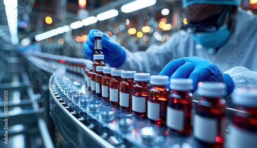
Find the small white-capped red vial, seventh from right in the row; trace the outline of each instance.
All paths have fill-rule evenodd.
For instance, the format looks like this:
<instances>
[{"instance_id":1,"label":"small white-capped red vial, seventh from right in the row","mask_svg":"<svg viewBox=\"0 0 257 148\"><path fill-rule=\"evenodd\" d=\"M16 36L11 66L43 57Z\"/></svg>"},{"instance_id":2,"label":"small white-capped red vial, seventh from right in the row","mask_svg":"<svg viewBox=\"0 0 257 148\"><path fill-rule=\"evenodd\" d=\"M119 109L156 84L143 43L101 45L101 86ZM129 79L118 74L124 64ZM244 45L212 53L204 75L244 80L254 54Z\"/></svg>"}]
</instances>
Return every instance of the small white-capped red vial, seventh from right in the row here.
<instances>
[{"instance_id":1,"label":"small white-capped red vial, seventh from right in the row","mask_svg":"<svg viewBox=\"0 0 257 148\"><path fill-rule=\"evenodd\" d=\"M120 82L122 81L121 72L124 70L115 69L111 71L113 78L110 80L110 103L113 106L119 107L120 105Z\"/></svg>"}]
</instances>

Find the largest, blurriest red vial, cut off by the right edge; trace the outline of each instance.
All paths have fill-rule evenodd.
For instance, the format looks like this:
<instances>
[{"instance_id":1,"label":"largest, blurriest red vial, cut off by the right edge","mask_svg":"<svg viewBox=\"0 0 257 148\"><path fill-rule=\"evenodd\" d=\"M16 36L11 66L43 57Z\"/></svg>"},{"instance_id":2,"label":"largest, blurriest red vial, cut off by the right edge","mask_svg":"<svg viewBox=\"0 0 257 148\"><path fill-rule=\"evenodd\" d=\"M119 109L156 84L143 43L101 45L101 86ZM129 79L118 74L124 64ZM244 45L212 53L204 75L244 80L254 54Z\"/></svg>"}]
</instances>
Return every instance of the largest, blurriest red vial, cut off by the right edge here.
<instances>
[{"instance_id":1,"label":"largest, blurriest red vial, cut off by the right edge","mask_svg":"<svg viewBox=\"0 0 257 148\"><path fill-rule=\"evenodd\" d=\"M234 147L257 146L257 89L241 87L232 97L232 125L229 127L227 144ZM232 147L231 146L231 147Z\"/></svg>"}]
</instances>

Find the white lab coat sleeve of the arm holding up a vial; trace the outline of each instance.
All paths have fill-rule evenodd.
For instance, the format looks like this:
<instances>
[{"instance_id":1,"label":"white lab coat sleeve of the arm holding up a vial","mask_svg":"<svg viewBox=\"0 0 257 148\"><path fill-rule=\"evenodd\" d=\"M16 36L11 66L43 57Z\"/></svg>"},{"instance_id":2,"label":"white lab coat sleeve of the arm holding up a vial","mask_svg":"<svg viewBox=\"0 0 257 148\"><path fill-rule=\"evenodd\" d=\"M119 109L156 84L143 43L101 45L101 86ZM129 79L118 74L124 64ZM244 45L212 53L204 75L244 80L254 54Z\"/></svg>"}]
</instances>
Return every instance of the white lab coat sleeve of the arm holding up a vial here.
<instances>
[{"instance_id":1,"label":"white lab coat sleeve of the arm holding up a vial","mask_svg":"<svg viewBox=\"0 0 257 148\"><path fill-rule=\"evenodd\" d=\"M174 40L170 37L162 45L151 45L146 51L130 52L125 49L126 59L120 69L159 74L169 61L174 59Z\"/></svg>"}]
</instances>

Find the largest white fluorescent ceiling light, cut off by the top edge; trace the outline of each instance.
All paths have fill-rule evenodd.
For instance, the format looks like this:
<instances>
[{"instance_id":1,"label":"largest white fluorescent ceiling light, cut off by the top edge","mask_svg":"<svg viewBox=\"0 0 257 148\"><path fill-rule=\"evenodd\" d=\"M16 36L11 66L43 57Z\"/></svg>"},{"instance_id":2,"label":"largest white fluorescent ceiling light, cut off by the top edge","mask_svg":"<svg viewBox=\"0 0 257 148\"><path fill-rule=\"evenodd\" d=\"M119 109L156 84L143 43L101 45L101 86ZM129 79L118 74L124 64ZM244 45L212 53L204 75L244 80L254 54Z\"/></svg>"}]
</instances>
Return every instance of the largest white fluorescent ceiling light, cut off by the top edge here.
<instances>
[{"instance_id":1,"label":"largest white fluorescent ceiling light, cut off by the top edge","mask_svg":"<svg viewBox=\"0 0 257 148\"><path fill-rule=\"evenodd\" d=\"M125 4L121 7L121 11L124 13L130 13L139 9L143 9L152 6L156 3L156 0L137 0L132 3Z\"/></svg>"}]
</instances>

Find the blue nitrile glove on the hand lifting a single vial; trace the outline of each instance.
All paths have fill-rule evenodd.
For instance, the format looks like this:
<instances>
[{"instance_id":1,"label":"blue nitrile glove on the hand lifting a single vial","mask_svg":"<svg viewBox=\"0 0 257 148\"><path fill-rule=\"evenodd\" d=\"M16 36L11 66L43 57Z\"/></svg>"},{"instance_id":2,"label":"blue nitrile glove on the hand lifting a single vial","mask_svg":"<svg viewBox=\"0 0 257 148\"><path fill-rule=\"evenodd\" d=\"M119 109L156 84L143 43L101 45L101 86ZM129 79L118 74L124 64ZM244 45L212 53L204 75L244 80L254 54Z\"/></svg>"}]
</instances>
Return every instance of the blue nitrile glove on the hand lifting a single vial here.
<instances>
[{"instance_id":1,"label":"blue nitrile glove on the hand lifting a single vial","mask_svg":"<svg viewBox=\"0 0 257 148\"><path fill-rule=\"evenodd\" d=\"M101 32L96 29L91 29L87 37L86 43L84 44L84 53L86 58L93 60L94 52L94 32ZM121 67L125 61L126 54L122 46L114 39L109 37L107 34L103 33L102 37L102 52L104 54L104 62L108 63L111 67L118 68Z\"/></svg>"}]
</instances>

